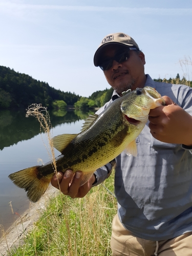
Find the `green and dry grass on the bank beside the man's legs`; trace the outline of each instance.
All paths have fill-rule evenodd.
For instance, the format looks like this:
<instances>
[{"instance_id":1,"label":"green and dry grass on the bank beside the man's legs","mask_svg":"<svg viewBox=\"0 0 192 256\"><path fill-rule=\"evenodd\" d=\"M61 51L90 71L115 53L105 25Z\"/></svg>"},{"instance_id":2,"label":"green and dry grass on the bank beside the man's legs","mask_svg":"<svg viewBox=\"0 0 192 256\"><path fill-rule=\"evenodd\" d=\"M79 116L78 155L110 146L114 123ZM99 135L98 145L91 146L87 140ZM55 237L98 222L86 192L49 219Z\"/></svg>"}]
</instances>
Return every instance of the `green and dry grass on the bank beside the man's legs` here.
<instances>
[{"instance_id":1,"label":"green and dry grass on the bank beside the man's legs","mask_svg":"<svg viewBox=\"0 0 192 256\"><path fill-rule=\"evenodd\" d=\"M114 175L103 185L113 191ZM57 195L51 199L24 245L9 256L112 255L111 225L117 212L115 197L103 186L93 187L81 199Z\"/></svg>"}]
</instances>

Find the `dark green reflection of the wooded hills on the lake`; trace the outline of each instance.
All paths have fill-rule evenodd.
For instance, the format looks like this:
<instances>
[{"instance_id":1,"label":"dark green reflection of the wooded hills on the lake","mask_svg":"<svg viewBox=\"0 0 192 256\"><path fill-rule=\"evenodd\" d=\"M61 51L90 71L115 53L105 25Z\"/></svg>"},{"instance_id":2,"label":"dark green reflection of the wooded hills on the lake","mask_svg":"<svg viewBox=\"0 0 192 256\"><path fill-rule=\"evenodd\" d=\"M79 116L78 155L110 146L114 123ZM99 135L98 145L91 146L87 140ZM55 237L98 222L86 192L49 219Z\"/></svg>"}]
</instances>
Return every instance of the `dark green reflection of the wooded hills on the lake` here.
<instances>
[{"instance_id":1,"label":"dark green reflection of the wooded hills on the lake","mask_svg":"<svg viewBox=\"0 0 192 256\"><path fill-rule=\"evenodd\" d=\"M58 111L50 112L52 126L61 123L71 123L86 119L90 112ZM28 140L39 134L39 122L36 118L26 117L24 111L0 111L0 150L16 144L18 141Z\"/></svg>"}]
</instances>

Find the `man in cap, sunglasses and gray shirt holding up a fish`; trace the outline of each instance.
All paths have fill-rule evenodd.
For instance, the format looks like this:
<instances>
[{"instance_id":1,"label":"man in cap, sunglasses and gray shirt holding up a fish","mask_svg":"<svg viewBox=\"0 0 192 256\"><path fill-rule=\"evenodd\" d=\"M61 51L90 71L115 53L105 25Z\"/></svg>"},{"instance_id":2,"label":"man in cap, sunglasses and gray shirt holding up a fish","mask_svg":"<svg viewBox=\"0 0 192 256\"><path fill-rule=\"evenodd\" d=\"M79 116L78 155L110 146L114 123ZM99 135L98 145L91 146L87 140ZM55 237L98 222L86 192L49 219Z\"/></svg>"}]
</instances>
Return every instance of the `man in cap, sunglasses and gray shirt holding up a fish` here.
<instances>
[{"instance_id":1,"label":"man in cap, sunglasses and gray shirt holding up a fish","mask_svg":"<svg viewBox=\"0 0 192 256\"><path fill-rule=\"evenodd\" d=\"M137 157L121 153L116 158L118 214L112 224L113 255L192 255L192 89L154 82L145 75L145 56L124 33L103 38L94 65L103 70L114 89L112 99L98 114L128 89L153 87L166 102L150 111L136 140ZM61 191L72 198L83 197L110 170L110 164L96 170L81 187L81 172L72 184L71 170L63 177L59 173ZM56 177L52 185L58 188Z\"/></svg>"}]
</instances>

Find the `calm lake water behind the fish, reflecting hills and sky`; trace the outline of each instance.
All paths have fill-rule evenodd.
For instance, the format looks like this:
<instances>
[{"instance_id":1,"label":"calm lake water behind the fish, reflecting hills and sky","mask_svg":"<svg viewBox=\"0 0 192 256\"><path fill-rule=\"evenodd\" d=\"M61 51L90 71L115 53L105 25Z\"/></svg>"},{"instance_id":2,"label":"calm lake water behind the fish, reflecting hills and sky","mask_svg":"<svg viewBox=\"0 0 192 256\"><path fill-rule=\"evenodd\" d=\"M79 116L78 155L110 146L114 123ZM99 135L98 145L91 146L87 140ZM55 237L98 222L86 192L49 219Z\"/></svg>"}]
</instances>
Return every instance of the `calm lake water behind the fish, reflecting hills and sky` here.
<instances>
[{"instance_id":1,"label":"calm lake water behind the fish, reflecting hills and sky","mask_svg":"<svg viewBox=\"0 0 192 256\"><path fill-rule=\"evenodd\" d=\"M4 230L15 221L10 202L13 211L18 214L22 214L30 205L25 190L15 186L8 175L50 161L45 147L48 141L44 133L40 134L39 122L35 117L25 117L25 114L25 111L0 111L0 225ZM88 115L74 111L50 113L51 134L79 133L83 119ZM58 155L60 153L55 150L55 157Z\"/></svg>"}]
</instances>

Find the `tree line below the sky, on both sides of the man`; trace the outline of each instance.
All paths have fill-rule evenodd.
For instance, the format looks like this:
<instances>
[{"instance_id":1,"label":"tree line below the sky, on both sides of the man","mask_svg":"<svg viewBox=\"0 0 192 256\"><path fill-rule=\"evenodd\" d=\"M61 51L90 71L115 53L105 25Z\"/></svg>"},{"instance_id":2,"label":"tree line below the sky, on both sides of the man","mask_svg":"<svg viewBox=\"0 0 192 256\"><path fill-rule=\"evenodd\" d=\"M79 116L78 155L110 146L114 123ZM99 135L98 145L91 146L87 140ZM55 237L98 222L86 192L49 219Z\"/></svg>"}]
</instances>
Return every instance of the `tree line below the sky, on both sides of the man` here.
<instances>
[{"instance_id":1,"label":"tree line below the sky, on both sides of the man","mask_svg":"<svg viewBox=\"0 0 192 256\"><path fill-rule=\"evenodd\" d=\"M184 77L154 79L169 83L186 84L192 87L192 82ZM63 110L67 106L76 109L100 108L111 99L113 89L94 92L90 97L81 97L71 92L63 92L50 87L47 82L42 82L29 75L15 72L13 69L0 66L0 109L28 108L32 103L41 103L48 109Z\"/></svg>"}]
</instances>

